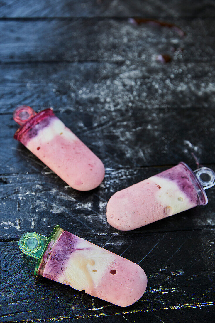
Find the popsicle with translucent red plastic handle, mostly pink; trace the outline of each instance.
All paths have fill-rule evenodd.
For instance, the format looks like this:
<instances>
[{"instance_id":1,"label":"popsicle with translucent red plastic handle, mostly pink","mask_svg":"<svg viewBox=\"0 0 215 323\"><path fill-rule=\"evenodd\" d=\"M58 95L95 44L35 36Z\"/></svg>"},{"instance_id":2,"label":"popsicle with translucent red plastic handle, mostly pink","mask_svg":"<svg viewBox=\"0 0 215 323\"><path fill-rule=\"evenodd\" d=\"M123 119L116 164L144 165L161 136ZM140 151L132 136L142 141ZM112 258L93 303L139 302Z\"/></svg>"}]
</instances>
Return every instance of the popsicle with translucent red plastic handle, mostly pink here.
<instances>
[{"instance_id":1,"label":"popsicle with translucent red plastic handle, mostly pink","mask_svg":"<svg viewBox=\"0 0 215 323\"><path fill-rule=\"evenodd\" d=\"M36 113L28 106L19 106L13 118L21 125L14 138L69 186L89 191L103 181L102 161L55 116L52 109Z\"/></svg>"}]
</instances>

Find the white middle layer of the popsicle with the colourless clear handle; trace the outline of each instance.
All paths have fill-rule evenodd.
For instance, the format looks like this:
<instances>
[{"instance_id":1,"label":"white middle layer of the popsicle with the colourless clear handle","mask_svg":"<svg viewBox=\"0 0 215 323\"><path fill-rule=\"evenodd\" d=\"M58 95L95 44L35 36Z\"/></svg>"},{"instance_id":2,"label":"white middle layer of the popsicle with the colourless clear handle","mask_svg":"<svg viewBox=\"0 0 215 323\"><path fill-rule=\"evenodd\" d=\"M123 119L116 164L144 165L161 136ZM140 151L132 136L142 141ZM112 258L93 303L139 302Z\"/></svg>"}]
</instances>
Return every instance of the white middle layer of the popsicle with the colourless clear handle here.
<instances>
[{"instance_id":1,"label":"white middle layer of the popsicle with the colourless clear handle","mask_svg":"<svg viewBox=\"0 0 215 323\"><path fill-rule=\"evenodd\" d=\"M148 178L147 181L154 182L161 187L159 191L155 193L155 198L162 205L167 205L167 215L183 212L196 205L179 189L175 182L169 179L155 175Z\"/></svg>"}]
</instances>

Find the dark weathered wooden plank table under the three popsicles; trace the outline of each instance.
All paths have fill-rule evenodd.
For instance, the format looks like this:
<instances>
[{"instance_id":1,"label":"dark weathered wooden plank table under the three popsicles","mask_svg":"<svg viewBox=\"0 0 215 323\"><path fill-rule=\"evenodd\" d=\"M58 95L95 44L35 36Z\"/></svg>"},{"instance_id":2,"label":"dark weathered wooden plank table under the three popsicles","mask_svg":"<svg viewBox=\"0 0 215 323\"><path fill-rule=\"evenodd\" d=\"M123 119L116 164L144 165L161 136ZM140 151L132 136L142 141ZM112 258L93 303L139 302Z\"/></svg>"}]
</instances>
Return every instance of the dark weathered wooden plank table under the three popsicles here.
<instances>
[{"instance_id":1,"label":"dark weathered wooden plank table under the three popsicles","mask_svg":"<svg viewBox=\"0 0 215 323\"><path fill-rule=\"evenodd\" d=\"M181 160L215 169L215 2L4 0L0 16L0 321L214 322L215 189L207 206L130 232L107 224L106 204ZM21 104L53 107L99 156L99 188L69 188L13 139ZM144 296L121 308L34 278L19 237L56 224L139 263Z\"/></svg>"}]
</instances>

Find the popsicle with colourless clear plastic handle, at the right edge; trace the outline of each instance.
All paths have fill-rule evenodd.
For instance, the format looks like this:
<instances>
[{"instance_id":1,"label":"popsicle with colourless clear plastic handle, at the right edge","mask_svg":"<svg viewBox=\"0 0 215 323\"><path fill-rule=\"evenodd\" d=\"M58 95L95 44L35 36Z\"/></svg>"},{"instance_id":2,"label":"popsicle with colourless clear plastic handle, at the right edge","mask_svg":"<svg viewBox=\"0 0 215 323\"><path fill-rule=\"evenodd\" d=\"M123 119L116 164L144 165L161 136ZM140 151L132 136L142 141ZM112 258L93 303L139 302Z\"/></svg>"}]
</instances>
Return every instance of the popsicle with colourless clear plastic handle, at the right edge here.
<instances>
[{"instance_id":1,"label":"popsicle with colourless clear plastic handle, at the right edge","mask_svg":"<svg viewBox=\"0 0 215 323\"><path fill-rule=\"evenodd\" d=\"M210 168L193 172L180 162L113 194L107 204L108 223L118 230L132 230L197 205L206 205L208 198L204 190L214 183L215 173Z\"/></svg>"}]
</instances>

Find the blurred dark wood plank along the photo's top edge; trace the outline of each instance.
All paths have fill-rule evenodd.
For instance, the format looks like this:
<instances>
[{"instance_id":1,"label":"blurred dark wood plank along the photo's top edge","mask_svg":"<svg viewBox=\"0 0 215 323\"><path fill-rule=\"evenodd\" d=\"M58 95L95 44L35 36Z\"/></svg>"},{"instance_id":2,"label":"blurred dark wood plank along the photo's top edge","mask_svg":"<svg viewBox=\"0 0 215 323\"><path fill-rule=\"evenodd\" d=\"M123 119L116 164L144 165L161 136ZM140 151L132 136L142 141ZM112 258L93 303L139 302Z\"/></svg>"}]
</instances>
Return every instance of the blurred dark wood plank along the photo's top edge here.
<instances>
[{"instance_id":1,"label":"blurred dark wood plank along the photo's top edge","mask_svg":"<svg viewBox=\"0 0 215 323\"><path fill-rule=\"evenodd\" d=\"M215 5L210 0L141 1L133 0L66 0L18 1L4 0L1 17L95 17L95 16L215 16Z\"/></svg>"}]
</instances>

